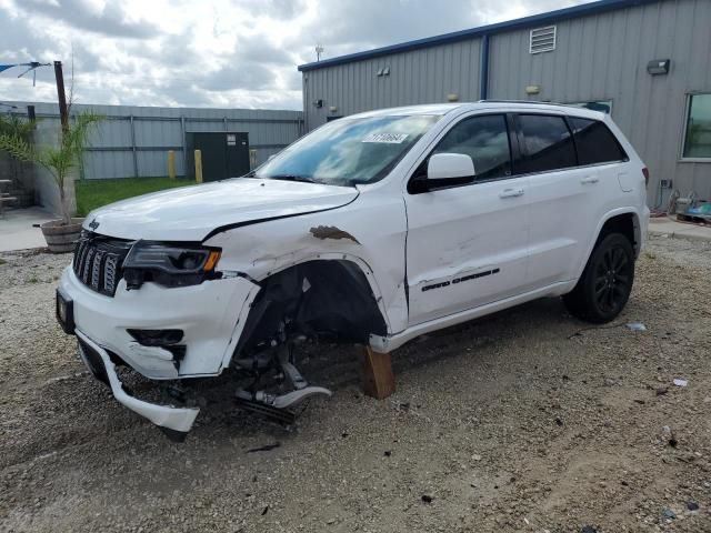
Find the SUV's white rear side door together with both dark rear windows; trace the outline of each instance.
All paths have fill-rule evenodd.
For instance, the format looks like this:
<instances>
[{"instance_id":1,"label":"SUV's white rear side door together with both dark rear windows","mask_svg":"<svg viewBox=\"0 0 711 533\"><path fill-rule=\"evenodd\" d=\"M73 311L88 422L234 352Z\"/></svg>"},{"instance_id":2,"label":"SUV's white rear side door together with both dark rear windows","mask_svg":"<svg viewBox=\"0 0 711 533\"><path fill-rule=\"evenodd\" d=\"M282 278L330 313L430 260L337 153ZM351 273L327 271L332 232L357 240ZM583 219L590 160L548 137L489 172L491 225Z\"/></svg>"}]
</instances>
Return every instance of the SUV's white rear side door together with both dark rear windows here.
<instances>
[{"instance_id":1,"label":"SUV's white rear side door together with both dark rear windows","mask_svg":"<svg viewBox=\"0 0 711 533\"><path fill-rule=\"evenodd\" d=\"M530 177L528 275L537 289L578 275L598 222L619 197L624 154L599 121L521 113L517 125Z\"/></svg>"}]
</instances>

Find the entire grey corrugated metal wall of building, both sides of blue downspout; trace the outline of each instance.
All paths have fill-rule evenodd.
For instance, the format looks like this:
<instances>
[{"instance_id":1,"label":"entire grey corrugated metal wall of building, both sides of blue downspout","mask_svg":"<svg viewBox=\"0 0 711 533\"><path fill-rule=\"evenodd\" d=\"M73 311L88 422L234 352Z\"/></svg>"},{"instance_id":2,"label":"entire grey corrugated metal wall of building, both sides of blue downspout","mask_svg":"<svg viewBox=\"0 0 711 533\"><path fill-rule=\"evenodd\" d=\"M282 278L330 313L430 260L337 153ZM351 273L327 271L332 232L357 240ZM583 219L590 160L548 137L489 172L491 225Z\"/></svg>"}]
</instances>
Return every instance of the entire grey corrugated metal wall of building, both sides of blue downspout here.
<instances>
[{"instance_id":1,"label":"entire grey corrugated metal wall of building, both sides of blue downspout","mask_svg":"<svg viewBox=\"0 0 711 533\"><path fill-rule=\"evenodd\" d=\"M548 23L541 26L549 26ZM557 49L529 53L531 28L490 37L489 98L581 102L612 100L612 117L650 168L649 203L665 203L673 179L682 194L711 198L711 161L681 161L688 94L711 92L711 1L660 0L560 21ZM479 39L303 72L309 130L329 114L479 99ZM668 76L647 63L671 59ZM377 71L390 67L390 77ZM541 93L525 94L527 86ZM317 109L313 101L323 100ZM338 108L336 113L329 107Z\"/></svg>"}]
</instances>

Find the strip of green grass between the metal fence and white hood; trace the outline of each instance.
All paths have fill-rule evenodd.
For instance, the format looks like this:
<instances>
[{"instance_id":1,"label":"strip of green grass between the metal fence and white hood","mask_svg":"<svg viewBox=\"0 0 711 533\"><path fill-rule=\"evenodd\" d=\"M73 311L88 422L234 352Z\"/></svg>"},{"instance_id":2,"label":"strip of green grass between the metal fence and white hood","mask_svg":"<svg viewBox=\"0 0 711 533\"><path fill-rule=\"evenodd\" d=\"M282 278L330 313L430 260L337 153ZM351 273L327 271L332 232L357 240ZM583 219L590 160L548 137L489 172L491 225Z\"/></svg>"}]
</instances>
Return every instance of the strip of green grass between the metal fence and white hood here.
<instances>
[{"instance_id":1,"label":"strip of green grass between the metal fence and white hood","mask_svg":"<svg viewBox=\"0 0 711 533\"><path fill-rule=\"evenodd\" d=\"M79 217L86 217L92 209L119 200L193 183L192 180L181 178L176 180L170 178L121 178L119 180L76 181L77 213Z\"/></svg>"}]
</instances>

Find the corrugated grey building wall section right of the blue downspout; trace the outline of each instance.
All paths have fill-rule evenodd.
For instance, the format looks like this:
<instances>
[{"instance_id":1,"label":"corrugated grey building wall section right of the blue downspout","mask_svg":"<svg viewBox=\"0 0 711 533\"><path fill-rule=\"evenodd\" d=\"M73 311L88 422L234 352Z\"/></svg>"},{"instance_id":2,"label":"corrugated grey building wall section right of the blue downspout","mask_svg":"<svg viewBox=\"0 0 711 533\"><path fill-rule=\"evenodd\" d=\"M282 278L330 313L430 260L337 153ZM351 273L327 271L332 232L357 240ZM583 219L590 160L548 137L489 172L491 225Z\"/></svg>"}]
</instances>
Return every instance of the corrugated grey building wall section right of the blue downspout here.
<instances>
[{"instance_id":1,"label":"corrugated grey building wall section right of the blue downspout","mask_svg":"<svg viewBox=\"0 0 711 533\"><path fill-rule=\"evenodd\" d=\"M612 118L649 165L649 203L667 200L660 179L685 194L711 197L711 161L681 159L687 99L711 92L711 2L665 0L559 22L555 51L530 54L529 30L490 40L490 98L612 100ZM668 76L650 76L647 63L671 59Z\"/></svg>"}]
</instances>

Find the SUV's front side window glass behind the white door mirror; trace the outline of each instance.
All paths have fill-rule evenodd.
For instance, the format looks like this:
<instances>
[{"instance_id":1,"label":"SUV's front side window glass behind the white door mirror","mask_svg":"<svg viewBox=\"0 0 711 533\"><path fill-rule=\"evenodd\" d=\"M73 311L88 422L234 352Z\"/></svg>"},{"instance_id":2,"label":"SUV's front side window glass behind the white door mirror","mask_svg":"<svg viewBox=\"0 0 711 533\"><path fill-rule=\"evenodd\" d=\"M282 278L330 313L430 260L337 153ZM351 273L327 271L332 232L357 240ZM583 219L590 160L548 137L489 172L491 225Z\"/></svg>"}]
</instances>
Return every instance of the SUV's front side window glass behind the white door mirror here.
<instances>
[{"instance_id":1,"label":"SUV's front side window glass behind the white door mirror","mask_svg":"<svg viewBox=\"0 0 711 533\"><path fill-rule=\"evenodd\" d=\"M511 147L503 114L464 119L454 125L432 153L463 153L474 162L475 181L511 175Z\"/></svg>"}]
</instances>

